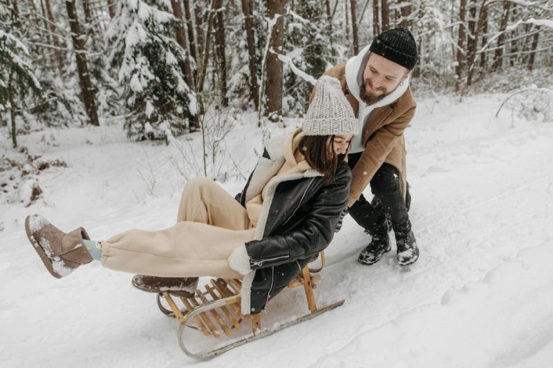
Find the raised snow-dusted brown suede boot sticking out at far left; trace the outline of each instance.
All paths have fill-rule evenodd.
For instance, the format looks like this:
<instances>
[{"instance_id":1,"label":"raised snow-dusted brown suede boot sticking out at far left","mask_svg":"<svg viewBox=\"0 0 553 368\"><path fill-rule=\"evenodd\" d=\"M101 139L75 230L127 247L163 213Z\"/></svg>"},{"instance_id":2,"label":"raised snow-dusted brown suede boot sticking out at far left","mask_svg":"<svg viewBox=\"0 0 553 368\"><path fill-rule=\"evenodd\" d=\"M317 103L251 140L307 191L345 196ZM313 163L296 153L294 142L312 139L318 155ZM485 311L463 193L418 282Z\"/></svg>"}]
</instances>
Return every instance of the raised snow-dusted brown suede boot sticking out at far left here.
<instances>
[{"instance_id":1,"label":"raised snow-dusted brown suede boot sticking out at far left","mask_svg":"<svg viewBox=\"0 0 553 368\"><path fill-rule=\"evenodd\" d=\"M30 215L25 219L25 230L44 266L55 278L66 276L93 259L82 244L83 239L90 240L82 227L64 233L41 215Z\"/></svg>"}]
</instances>

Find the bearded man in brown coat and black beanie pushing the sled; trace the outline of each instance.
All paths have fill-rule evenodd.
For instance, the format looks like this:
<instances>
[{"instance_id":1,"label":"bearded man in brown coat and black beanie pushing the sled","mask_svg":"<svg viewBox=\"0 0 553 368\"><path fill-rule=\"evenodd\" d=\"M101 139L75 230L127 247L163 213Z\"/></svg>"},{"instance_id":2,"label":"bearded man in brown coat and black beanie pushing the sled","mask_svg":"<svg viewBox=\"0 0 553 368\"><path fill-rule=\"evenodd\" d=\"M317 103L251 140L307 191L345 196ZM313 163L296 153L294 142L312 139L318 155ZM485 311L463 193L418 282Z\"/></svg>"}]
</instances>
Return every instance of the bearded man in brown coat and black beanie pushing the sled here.
<instances>
[{"instance_id":1,"label":"bearded man in brown coat and black beanie pushing the sled","mask_svg":"<svg viewBox=\"0 0 553 368\"><path fill-rule=\"evenodd\" d=\"M371 235L357 259L362 264L373 264L391 250L388 218L395 233L397 262L412 264L419 256L407 213L410 197L403 136L415 115L409 78L417 60L411 32L395 28L382 32L359 55L325 73L339 79L362 127L348 155L353 181L348 210L343 213L348 211ZM362 194L369 183L372 204Z\"/></svg>"}]
</instances>

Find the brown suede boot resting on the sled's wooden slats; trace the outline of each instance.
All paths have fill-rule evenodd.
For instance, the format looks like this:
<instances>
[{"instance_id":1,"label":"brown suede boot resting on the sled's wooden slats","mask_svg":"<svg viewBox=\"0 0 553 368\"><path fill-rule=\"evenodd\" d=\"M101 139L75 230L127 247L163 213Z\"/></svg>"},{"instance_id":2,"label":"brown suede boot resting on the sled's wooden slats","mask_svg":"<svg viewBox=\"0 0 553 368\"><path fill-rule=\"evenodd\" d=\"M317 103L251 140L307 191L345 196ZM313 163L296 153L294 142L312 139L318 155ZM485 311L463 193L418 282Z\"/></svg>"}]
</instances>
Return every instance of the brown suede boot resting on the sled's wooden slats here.
<instances>
[{"instance_id":1,"label":"brown suede boot resting on the sled's wooden slats","mask_svg":"<svg viewBox=\"0 0 553 368\"><path fill-rule=\"evenodd\" d=\"M182 298L194 298L199 278L160 278L158 276L135 275L133 287L148 293L169 292Z\"/></svg>"}]
</instances>

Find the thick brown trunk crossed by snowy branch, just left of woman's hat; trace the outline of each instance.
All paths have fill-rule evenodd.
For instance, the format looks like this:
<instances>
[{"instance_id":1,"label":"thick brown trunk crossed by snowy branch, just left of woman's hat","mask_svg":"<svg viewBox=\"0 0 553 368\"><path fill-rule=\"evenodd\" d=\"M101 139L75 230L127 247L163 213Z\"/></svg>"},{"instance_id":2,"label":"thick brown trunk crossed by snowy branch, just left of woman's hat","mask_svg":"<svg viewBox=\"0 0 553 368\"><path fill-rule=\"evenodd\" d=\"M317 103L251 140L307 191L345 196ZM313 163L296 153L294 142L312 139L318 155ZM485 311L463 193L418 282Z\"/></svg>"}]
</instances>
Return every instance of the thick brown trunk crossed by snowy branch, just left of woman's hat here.
<instances>
[{"instance_id":1,"label":"thick brown trunk crossed by snowy branch, just left of woman's hat","mask_svg":"<svg viewBox=\"0 0 553 368\"><path fill-rule=\"evenodd\" d=\"M284 43L284 5L286 0L268 0L267 10L269 19L279 16L271 30L271 49L274 52L282 52ZM274 52L269 51L267 56L267 83L266 102L267 116L273 121L279 119L282 114L282 88L283 66Z\"/></svg>"}]
</instances>

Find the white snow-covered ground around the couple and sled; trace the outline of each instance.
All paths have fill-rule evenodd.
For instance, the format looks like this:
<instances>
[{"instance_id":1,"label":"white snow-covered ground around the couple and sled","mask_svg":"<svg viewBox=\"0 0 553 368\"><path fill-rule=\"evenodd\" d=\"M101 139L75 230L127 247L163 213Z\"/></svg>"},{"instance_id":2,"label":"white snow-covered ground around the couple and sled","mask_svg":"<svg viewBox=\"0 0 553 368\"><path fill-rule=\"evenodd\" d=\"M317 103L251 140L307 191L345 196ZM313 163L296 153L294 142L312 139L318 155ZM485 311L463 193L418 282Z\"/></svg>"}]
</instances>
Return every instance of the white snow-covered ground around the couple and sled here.
<instances>
[{"instance_id":1,"label":"white snow-covered ground around the couple and sled","mask_svg":"<svg viewBox=\"0 0 553 368\"><path fill-rule=\"evenodd\" d=\"M316 290L342 307L200 363L131 275L95 263L56 280L24 233L30 213L96 239L170 226L185 182L174 144L127 142L118 126L19 137L68 167L38 175L35 204L0 204L0 367L552 367L553 122L495 118L504 97L419 101L406 131L417 263L400 268L392 251L357 264L368 238L347 217ZM260 133L239 124L227 148L247 175ZM245 182L227 177L231 193ZM270 311L287 318L295 301L281 293Z\"/></svg>"}]
</instances>

